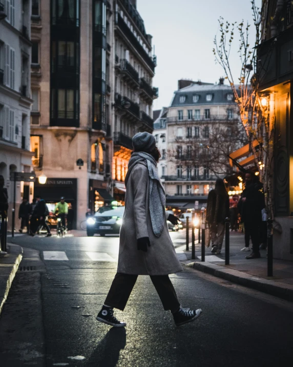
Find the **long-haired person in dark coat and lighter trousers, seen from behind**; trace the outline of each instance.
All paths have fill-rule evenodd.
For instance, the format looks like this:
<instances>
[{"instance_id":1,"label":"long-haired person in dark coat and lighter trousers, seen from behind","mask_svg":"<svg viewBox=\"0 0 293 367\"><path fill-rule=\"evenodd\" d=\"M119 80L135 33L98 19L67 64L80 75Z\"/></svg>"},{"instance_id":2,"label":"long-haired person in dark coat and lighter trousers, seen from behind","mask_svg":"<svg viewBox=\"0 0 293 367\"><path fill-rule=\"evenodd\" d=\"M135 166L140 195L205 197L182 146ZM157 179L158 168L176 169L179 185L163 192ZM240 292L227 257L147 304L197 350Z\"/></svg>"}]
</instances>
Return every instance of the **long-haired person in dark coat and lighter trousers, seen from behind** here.
<instances>
[{"instance_id":1,"label":"long-haired person in dark coat and lighter trousers, seen from behind","mask_svg":"<svg viewBox=\"0 0 293 367\"><path fill-rule=\"evenodd\" d=\"M227 217L229 217L229 196L224 180L218 178L215 188L208 193L206 207L206 221L210 227L213 254L221 254Z\"/></svg>"}]
</instances>

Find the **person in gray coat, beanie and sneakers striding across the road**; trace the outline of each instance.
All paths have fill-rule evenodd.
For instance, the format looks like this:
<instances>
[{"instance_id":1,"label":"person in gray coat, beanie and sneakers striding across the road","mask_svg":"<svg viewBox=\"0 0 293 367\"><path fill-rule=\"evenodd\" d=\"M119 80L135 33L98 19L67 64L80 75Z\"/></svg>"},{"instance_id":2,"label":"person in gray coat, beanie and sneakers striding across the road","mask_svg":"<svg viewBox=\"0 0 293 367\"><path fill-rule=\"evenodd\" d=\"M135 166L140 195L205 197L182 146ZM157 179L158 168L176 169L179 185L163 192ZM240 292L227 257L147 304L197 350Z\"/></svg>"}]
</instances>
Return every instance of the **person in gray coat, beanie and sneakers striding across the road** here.
<instances>
[{"instance_id":1,"label":"person in gray coat, beanie and sneakers striding across the road","mask_svg":"<svg viewBox=\"0 0 293 367\"><path fill-rule=\"evenodd\" d=\"M112 326L118 321L113 308L124 310L138 275L150 275L164 310L170 310L176 325L195 320L201 310L182 308L169 274L182 271L175 253L165 213L165 192L157 172L160 152L149 132L139 132L132 140L134 152L125 178L125 211L120 229L117 274L97 320Z\"/></svg>"}]
</instances>

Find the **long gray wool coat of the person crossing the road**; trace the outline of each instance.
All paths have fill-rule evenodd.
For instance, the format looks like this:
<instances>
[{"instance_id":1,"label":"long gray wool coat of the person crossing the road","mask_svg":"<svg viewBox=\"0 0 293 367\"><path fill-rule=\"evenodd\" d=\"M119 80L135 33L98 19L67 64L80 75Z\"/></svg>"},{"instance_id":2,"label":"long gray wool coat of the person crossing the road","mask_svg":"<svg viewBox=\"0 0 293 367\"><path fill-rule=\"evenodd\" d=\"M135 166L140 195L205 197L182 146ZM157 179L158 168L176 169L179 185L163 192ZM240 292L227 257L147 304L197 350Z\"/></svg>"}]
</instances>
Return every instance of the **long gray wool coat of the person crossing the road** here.
<instances>
[{"instance_id":1,"label":"long gray wool coat of the person crossing the road","mask_svg":"<svg viewBox=\"0 0 293 367\"><path fill-rule=\"evenodd\" d=\"M137 250L137 239L142 237L150 238L151 246L147 252ZM148 167L144 163L138 163L131 172L126 189L117 272L167 275L182 270L167 222L160 237L153 233L149 210Z\"/></svg>"}]
</instances>

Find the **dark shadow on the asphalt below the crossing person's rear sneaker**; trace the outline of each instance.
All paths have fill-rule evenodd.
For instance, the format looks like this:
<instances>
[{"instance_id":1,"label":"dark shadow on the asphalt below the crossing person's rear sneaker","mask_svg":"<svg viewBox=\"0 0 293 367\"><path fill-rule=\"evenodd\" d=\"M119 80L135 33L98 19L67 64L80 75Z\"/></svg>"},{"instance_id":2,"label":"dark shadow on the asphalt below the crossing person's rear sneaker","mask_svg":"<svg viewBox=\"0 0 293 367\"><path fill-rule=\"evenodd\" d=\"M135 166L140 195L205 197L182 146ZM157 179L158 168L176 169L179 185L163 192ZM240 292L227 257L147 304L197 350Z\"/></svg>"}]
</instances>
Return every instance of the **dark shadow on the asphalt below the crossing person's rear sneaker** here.
<instances>
[{"instance_id":1,"label":"dark shadow on the asphalt below the crossing person's rear sneaker","mask_svg":"<svg viewBox=\"0 0 293 367\"><path fill-rule=\"evenodd\" d=\"M126 344L126 331L124 327L112 327L99 342L89 359L89 365L100 367L114 367L119 360L119 353Z\"/></svg>"}]
</instances>

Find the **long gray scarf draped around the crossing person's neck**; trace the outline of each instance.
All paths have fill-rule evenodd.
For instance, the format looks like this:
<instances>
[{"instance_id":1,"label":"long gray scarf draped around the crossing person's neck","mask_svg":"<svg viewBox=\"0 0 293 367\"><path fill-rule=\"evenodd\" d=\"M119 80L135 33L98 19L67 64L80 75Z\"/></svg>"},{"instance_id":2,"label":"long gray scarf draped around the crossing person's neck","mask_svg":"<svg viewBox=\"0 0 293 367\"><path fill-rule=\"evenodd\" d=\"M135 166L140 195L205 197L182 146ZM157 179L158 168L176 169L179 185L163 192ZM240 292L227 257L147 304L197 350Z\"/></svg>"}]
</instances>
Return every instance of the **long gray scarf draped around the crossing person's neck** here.
<instances>
[{"instance_id":1,"label":"long gray scarf draped around the crossing person's neck","mask_svg":"<svg viewBox=\"0 0 293 367\"><path fill-rule=\"evenodd\" d=\"M128 163L128 172L125 177L125 186L127 185L133 167L137 163L141 162L147 164L149 171L149 178L150 178L149 201L150 201L150 215L153 232L156 237L160 237L166 222L165 217L166 197L164 188L158 176L157 162L155 161L154 157L151 156L151 154L141 151L132 153L132 156Z\"/></svg>"}]
</instances>

